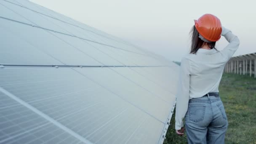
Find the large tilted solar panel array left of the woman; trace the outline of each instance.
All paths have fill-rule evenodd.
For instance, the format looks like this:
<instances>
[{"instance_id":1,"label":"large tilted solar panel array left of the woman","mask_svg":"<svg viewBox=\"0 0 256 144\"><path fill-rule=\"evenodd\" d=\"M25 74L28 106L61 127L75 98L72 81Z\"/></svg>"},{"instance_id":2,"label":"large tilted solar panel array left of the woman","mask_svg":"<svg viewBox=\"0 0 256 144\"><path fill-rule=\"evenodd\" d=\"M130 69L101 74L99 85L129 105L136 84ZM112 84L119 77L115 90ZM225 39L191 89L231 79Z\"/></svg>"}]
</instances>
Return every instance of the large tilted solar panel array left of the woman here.
<instances>
[{"instance_id":1,"label":"large tilted solar panel array left of the woman","mask_svg":"<svg viewBox=\"0 0 256 144\"><path fill-rule=\"evenodd\" d=\"M28 0L0 31L0 144L163 143L178 65Z\"/></svg>"}]
</instances>

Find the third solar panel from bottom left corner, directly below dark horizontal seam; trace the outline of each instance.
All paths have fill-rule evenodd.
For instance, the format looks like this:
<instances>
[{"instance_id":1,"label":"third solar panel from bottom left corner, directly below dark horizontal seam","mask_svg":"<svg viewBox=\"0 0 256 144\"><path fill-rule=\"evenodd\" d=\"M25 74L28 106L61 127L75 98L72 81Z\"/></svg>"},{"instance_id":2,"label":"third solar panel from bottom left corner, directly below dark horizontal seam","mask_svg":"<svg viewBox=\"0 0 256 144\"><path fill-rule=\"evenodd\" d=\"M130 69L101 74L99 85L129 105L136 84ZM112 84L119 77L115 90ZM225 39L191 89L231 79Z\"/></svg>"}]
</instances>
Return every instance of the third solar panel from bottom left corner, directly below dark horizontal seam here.
<instances>
[{"instance_id":1,"label":"third solar panel from bottom left corner, directly below dark horizontal seam","mask_svg":"<svg viewBox=\"0 0 256 144\"><path fill-rule=\"evenodd\" d=\"M152 93L141 84L135 83L131 77L123 77L123 75L119 75L115 72L115 69L97 68L76 70L164 123L168 116L169 109L172 107L169 101ZM161 107L159 107L160 105Z\"/></svg>"}]
</instances>

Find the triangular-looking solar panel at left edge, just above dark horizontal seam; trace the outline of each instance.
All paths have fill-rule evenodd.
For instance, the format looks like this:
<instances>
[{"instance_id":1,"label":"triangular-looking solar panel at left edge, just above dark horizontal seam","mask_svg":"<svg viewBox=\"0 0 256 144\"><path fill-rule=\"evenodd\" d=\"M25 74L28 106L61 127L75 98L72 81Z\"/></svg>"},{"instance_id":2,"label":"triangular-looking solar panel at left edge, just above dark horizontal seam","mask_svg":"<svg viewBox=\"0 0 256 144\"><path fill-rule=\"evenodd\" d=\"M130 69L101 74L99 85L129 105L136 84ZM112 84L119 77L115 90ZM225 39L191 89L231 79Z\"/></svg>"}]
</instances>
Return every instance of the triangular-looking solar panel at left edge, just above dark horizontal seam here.
<instances>
[{"instance_id":1,"label":"triangular-looking solar panel at left edge, just above dark horizontal seam","mask_svg":"<svg viewBox=\"0 0 256 144\"><path fill-rule=\"evenodd\" d=\"M0 31L0 64L62 64L8 29L0 27Z\"/></svg>"}]
</instances>

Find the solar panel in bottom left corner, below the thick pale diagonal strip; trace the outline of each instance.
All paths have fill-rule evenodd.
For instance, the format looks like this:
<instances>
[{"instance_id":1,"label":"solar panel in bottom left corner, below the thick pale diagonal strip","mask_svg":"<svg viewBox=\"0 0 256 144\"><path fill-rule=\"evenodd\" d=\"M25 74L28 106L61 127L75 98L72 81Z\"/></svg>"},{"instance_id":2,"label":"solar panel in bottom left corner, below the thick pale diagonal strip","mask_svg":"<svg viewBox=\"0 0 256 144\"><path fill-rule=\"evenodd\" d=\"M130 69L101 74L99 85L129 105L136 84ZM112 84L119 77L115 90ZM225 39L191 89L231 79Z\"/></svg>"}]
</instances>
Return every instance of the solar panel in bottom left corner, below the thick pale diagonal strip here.
<instances>
[{"instance_id":1,"label":"solar panel in bottom left corner, below the thick pale diagonal strip","mask_svg":"<svg viewBox=\"0 0 256 144\"><path fill-rule=\"evenodd\" d=\"M67 143L80 142L4 93L0 92L0 99L1 144L56 144L66 137Z\"/></svg>"}]
</instances>

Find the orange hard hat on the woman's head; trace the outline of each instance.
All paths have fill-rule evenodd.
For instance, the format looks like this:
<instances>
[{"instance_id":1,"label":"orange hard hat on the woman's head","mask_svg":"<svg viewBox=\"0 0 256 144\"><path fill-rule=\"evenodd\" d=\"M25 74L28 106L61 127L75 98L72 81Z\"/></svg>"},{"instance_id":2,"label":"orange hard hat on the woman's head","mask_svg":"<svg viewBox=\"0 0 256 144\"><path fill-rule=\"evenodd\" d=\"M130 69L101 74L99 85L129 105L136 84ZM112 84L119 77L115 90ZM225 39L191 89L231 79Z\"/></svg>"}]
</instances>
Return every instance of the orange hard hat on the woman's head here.
<instances>
[{"instance_id":1,"label":"orange hard hat on the woman's head","mask_svg":"<svg viewBox=\"0 0 256 144\"><path fill-rule=\"evenodd\" d=\"M206 40L216 42L221 38L221 21L212 14L204 14L195 21L195 28Z\"/></svg>"}]
</instances>

